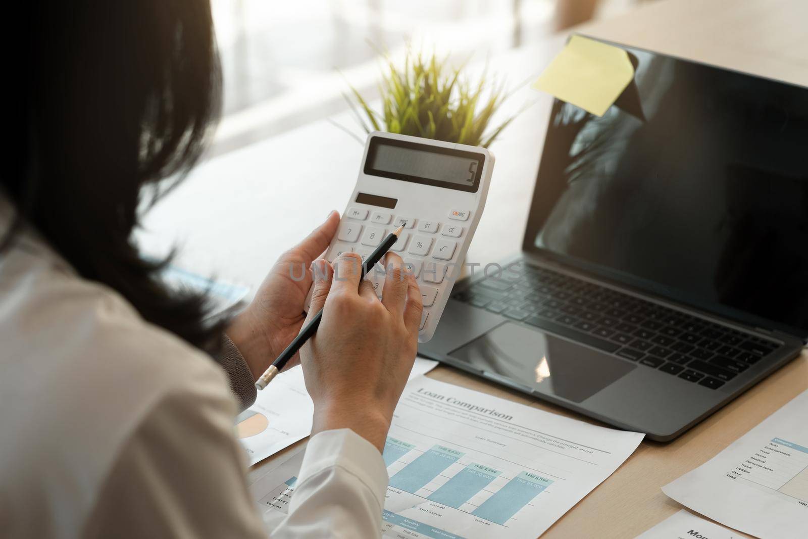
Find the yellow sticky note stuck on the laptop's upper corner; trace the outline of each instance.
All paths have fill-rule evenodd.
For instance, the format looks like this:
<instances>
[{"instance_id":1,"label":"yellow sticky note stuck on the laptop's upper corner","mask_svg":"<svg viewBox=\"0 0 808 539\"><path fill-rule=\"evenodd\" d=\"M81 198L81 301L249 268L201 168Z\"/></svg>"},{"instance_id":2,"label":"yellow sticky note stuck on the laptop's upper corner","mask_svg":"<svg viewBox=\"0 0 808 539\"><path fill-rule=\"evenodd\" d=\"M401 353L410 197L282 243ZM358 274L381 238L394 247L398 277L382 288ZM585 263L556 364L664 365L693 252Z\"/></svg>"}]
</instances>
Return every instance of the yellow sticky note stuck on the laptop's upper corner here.
<instances>
[{"instance_id":1,"label":"yellow sticky note stuck on the laptop's upper corner","mask_svg":"<svg viewBox=\"0 0 808 539\"><path fill-rule=\"evenodd\" d=\"M634 66L625 50L572 36L532 86L603 116L633 78Z\"/></svg>"}]
</instances>

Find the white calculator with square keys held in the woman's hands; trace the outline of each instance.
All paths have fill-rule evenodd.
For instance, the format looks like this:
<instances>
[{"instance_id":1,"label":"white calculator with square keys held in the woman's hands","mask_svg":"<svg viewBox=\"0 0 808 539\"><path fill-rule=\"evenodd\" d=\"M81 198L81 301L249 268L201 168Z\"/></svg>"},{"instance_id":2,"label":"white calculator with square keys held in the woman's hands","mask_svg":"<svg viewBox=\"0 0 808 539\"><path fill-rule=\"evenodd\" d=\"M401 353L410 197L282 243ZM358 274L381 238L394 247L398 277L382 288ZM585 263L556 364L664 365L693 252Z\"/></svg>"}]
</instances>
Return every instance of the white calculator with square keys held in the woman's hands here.
<instances>
[{"instance_id":1,"label":"white calculator with square keys held in the woman's hands","mask_svg":"<svg viewBox=\"0 0 808 539\"><path fill-rule=\"evenodd\" d=\"M427 342L461 275L493 169L494 156L485 148L370 133L356 187L326 259L333 262L354 251L364 260L404 225L390 251L418 280L423 298L419 342ZM367 278L381 297L384 269L375 270Z\"/></svg>"}]
</instances>

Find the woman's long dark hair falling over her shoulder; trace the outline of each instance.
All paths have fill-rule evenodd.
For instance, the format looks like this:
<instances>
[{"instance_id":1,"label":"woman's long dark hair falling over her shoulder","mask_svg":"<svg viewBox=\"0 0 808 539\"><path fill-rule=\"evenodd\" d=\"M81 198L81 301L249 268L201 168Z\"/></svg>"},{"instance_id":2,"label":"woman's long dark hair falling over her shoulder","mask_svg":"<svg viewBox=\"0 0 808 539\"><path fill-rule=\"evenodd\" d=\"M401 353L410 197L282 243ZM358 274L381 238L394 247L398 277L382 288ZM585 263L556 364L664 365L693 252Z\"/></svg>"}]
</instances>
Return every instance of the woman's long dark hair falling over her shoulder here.
<instances>
[{"instance_id":1,"label":"woman's long dark hair falling over her shoulder","mask_svg":"<svg viewBox=\"0 0 808 539\"><path fill-rule=\"evenodd\" d=\"M141 187L154 203L183 178L220 112L204 0L31 2L15 78L21 146L2 186L17 209L4 246L33 225L86 279L197 347L219 342L205 297L170 291L131 238ZM19 34L18 34L19 36ZM174 179L169 179L174 178Z\"/></svg>"}]
</instances>

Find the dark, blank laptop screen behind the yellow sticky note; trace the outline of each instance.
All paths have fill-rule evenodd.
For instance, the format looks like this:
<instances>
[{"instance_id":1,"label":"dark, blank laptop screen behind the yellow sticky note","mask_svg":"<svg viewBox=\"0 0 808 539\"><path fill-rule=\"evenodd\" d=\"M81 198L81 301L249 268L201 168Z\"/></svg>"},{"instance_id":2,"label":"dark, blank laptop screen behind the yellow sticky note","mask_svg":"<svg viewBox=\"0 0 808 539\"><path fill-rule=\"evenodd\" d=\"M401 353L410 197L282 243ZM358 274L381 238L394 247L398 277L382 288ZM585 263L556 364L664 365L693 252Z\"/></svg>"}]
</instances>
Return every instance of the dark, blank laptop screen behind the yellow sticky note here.
<instances>
[{"instance_id":1,"label":"dark, blank laptop screen behind the yellow sticky note","mask_svg":"<svg viewBox=\"0 0 808 539\"><path fill-rule=\"evenodd\" d=\"M808 88L625 49L604 116L553 103L524 249L808 335Z\"/></svg>"}]
</instances>

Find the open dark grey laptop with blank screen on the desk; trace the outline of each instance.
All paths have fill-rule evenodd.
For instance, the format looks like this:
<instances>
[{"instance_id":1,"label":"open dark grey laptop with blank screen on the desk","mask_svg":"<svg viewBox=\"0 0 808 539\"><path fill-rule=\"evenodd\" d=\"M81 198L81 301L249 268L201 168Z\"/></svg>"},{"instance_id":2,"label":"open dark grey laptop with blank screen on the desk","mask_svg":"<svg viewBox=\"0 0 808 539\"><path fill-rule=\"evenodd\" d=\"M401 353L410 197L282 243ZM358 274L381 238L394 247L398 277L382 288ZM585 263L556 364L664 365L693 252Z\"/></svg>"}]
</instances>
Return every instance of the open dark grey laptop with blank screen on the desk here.
<instances>
[{"instance_id":1,"label":"open dark grey laptop with blank screen on the desk","mask_svg":"<svg viewBox=\"0 0 808 539\"><path fill-rule=\"evenodd\" d=\"M617 46L633 82L554 101L522 251L419 352L666 441L808 341L808 88Z\"/></svg>"}]
</instances>

